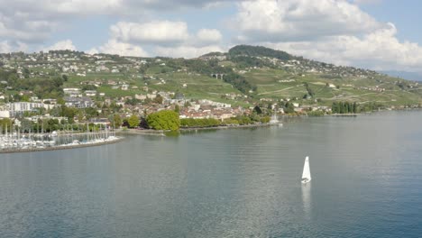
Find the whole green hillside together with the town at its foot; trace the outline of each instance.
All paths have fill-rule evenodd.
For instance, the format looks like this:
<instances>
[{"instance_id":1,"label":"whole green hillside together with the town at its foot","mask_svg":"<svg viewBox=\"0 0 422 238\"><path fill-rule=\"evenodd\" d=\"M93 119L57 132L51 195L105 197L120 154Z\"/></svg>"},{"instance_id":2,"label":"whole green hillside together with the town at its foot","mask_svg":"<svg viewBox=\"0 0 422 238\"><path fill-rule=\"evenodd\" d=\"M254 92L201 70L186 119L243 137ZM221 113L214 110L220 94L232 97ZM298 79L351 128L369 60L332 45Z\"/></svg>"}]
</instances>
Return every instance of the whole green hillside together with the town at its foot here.
<instances>
[{"instance_id":1,"label":"whole green hillside together with the town at its foot","mask_svg":"<svg viewBox=\"0 0 422 238\"><path fill-rule=\"evenodd\" d=\"M420 98L417 82L263 47L198 59L71 50L0 54L0 118L32 127L50 121L49 130L78 123L137 127L162 110L180 119L261 124L273 114L417 107ZM139 122L129 124L131 116Z\"/></svg>"}]
</instances>

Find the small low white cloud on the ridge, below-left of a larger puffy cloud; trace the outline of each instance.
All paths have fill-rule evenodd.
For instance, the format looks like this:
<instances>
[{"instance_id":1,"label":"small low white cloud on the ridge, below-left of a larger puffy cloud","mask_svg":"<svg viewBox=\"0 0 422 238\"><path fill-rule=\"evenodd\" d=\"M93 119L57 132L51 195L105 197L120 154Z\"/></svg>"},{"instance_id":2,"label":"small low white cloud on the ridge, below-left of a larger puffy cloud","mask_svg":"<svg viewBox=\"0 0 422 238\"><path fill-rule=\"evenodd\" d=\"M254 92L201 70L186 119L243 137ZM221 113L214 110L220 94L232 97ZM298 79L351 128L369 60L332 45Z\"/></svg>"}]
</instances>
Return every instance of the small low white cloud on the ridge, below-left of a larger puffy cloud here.
<instances>
[{"instance_id":1,"label":"small low white cloud on the ridge, below-left of a larger puffy cloud","mask_svg":"<svg viewBox=\"0 0 422 238\"><path fill-rule=\"evenodd\" d=\"M122 56L136 56L136 57L147 57L148 53L143 50L141 47L125 43L119 42L116 40L107 41L104 45L98 47L98 49L94 48L87 51L90 54L95 53L105 53L105 54L117 54Z\"/></svg>"}]
</instances>

